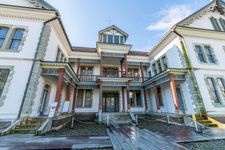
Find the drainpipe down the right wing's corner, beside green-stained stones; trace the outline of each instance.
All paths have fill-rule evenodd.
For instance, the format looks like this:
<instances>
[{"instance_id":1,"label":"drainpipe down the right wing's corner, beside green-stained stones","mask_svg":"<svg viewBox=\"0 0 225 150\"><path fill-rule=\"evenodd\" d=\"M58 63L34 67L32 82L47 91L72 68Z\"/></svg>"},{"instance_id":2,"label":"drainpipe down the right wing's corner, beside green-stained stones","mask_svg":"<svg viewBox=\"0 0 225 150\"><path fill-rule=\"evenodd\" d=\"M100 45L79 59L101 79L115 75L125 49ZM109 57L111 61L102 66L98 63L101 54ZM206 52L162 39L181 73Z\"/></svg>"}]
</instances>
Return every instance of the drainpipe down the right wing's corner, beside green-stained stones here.
<instances>
[{"instance_id":1,"label":"drainpipe down the right wing's corner, beside green-stained stones","mask_svg":"<svg viewBox=\"0 0 225 150\"><path fill-rule=\"evenodd\" d=\"M181 38L180 42L181 42L182 50L183 50L184 55L185 55L184 57L185 57L185 61L186 61L186 64L187 64L187 69L188 69L188 72L190 73L194 90L195 90L195 92L197 92L196 99L197 99L197 107L199 109L197 113L199 113L200 116L206 115L206 111L205 111L205 108L204 108L204 103L202 102L202 97L200 95L199 87L198 87L197 84L195 84L196 77L195 77L194 72L193 72L194 68L191 65L191 62L189 60L188 52L185 49L185 45L184 45L185 44L185 40L184 40L184 37L180 33L178 33L175 29L176 29L176 27L174 27L172 29L172 32L174 32L176 35L178 35ZM202 106L201 106L200 103L202 103Z\"/></svg>"}]
</instances>

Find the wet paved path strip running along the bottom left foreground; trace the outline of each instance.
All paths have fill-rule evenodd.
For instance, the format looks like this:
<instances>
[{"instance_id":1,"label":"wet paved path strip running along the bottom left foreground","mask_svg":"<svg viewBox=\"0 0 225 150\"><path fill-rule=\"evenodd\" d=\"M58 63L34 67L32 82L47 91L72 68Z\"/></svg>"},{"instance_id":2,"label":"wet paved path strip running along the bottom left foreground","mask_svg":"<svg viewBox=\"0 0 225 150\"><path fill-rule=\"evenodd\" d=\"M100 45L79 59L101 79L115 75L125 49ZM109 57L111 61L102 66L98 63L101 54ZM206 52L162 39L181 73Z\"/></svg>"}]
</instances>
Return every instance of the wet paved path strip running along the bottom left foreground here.
<instances>
[{"instance_id":1,"label":"wet paved path strip running along the bottom left foreground","mask_svg":"<svg viewBox=\"0 0 225 150\"><path fill-rule=\"evenodd\" d=\"M74 149L112 147L108 136L104 137L45 137L31 134L14 134L0 137L1 150Z\"/></svg>"}]
</instances>

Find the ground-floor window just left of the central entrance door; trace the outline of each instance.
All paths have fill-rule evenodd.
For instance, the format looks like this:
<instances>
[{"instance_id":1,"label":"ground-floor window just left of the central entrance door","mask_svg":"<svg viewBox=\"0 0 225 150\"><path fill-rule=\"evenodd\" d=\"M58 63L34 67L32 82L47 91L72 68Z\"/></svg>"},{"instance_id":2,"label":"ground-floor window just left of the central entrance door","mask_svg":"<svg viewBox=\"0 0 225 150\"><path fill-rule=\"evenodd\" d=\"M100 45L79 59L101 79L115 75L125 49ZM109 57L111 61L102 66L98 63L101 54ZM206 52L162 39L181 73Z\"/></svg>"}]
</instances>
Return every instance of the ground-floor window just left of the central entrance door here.
<instances>
[{"instance_id":1,"label":"ground-floor window just left of the central entrance door","mask_svg":"<svg viewBox=\"0 0 225 150\"><path fill-rule=\"evenodd\" d=\"M77 108L90 108L92 107L93 94L90 89L79 89L76 101Z\"/></svg>"}]
</instances>

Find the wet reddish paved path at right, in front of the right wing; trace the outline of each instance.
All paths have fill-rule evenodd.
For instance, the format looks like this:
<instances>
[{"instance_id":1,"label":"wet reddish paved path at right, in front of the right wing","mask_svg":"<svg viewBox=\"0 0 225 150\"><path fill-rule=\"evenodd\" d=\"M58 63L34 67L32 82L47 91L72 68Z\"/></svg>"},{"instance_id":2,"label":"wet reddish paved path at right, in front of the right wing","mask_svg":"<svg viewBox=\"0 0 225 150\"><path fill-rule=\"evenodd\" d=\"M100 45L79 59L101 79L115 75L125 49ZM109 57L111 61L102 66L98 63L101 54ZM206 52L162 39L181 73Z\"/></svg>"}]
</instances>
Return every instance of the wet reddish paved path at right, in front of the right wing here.
<instances>
[{"instance_id":1,"label":"wet reddish paved path at right, in front of the right wing","mask_svg":"<svg viewBox=\"0 0 225 150\"><path fill-rule=\"evenodd\" d=\"M196 133L194 131L169 131L160 134L172 141L179 142L193 142L193 141L204 141L204 140L218 140L225 139L225 129L220 128L207 128L203 130L203 133Z\"/></svg>"}]
</instances>

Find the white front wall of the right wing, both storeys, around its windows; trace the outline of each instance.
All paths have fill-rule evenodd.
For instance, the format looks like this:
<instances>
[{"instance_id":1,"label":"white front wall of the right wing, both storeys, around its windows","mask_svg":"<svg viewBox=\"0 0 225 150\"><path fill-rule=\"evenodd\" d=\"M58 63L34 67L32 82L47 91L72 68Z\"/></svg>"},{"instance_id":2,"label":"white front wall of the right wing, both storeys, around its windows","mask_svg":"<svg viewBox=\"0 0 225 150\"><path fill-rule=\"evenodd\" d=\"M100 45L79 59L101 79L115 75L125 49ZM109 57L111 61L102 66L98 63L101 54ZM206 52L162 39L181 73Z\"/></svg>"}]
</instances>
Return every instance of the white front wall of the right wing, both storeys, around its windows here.
<instances>
[{"instance_id":1,"label":"white front wall of the right wing, both storeys, around its windows","mask_svg":"<svg viewBox=\"0 0 225 150\"><path fill-rule=\"evenodd\" d=\"M198 68L195 71L195 77L197 79L198 85L201 87L200 93L208 114L224 114L225 107L216 107L212 104L212 100L209 95L209 91L207 89L205 78L207 76L218 77L222 76L225 77L225 51L223 49L224 41L223 40L216 40L216 39L206 39L206 38L196 38L196 37L185 37L186 47L188 49L192 66L194 68ZM214 51L215 57L218 60L217 64L208 64L208 63L201 63L199 62L194 45L195 44L206 44L210 45L212 50ZM224 98L222 97L224 100Z\"/></svg>"}]
</instances>

